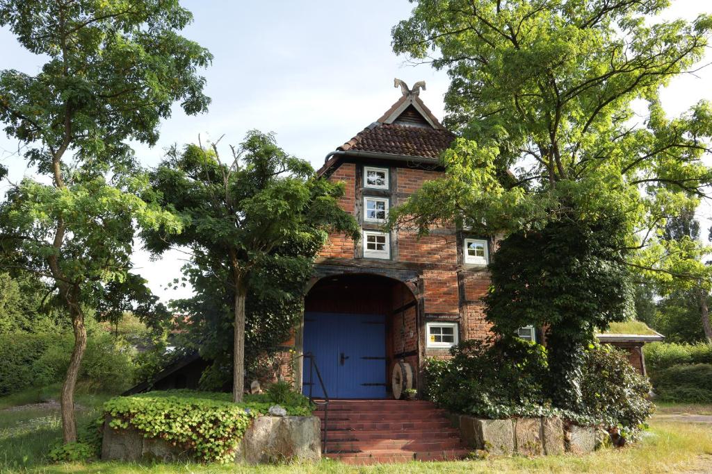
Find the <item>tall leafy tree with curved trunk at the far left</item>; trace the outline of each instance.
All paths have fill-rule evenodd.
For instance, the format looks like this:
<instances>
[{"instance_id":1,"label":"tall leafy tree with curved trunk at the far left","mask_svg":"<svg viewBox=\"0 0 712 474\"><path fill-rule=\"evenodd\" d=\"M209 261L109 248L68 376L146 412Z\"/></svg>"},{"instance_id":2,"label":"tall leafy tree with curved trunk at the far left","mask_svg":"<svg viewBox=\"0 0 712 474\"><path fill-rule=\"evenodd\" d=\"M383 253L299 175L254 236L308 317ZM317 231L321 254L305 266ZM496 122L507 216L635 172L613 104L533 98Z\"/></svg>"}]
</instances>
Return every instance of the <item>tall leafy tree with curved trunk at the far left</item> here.
<instances>
[{"instance_id":1,"label":"tall leafy tree with curved trunk at the far left","mask_svg":"<svg viewBox=\"0 0 712 474\"><path fill-rule=\"evenodd\" d=\"M179 230L145 192L147 176L127 141L155 144L175 101L189 114L206 109L196 70L211 55L177 34L191 19L177 1L0 1L0 26L47 58L37 75L0 72L0 121L41 176L9 191L0 243L6 266L52 281L72 321L65 442L76 440L85 308L146 294L130 273L137 225Z\"/></svg>"}]
</instances>

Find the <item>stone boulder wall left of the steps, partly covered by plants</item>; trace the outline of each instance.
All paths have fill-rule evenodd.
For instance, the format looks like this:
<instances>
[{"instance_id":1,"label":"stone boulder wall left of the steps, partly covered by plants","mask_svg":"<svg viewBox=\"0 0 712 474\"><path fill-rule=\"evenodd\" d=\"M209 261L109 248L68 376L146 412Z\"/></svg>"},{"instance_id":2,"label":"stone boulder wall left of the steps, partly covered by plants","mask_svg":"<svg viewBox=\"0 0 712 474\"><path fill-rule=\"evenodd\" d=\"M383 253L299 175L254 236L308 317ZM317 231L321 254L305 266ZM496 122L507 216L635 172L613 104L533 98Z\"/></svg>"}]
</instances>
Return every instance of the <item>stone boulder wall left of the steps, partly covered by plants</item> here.
<instances>
[{"instance_id":1,"label":"stone boulder wall left of the steps, partly covered by plants","mask_svg":"<svg viewBox=\"0 0 712 474\"><path fill-rule=\"evenodd\" d=\"M112 429L104 422L102 460L192 460L192 453L134 428ZM321 458L320 422L316 416L260 416L245 431L235 453L237 463L272 463Z\"/></svg>"}]
</instances>

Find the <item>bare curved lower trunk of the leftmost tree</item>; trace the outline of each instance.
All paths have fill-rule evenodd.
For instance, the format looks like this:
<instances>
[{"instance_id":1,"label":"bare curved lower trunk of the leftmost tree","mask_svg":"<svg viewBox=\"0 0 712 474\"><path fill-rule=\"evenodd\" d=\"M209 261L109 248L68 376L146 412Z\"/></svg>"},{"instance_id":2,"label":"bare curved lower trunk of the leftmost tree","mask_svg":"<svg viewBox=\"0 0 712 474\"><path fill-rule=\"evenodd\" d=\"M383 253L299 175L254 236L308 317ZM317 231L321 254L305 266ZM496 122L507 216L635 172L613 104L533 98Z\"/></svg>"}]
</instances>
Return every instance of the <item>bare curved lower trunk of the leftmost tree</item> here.
<instances>
[{"instance_id":1,"label":"bare curved lower trunk of the leftmost tree","mask_svg":"<svg viewBox=\"0 0 712 474\"><path fill-rule=\"evenodd\" d=\"M67 295L67 303L72 316L74 330L74 349L69 360L67 375L62 384L60 407L62 412L62 436L65 443L77 441L77 421L74 415L74 389L79 376L79 369L87 347L87 330L84 326L84 313L82 312L75 293Z\"/></svg>"}]
</instances>

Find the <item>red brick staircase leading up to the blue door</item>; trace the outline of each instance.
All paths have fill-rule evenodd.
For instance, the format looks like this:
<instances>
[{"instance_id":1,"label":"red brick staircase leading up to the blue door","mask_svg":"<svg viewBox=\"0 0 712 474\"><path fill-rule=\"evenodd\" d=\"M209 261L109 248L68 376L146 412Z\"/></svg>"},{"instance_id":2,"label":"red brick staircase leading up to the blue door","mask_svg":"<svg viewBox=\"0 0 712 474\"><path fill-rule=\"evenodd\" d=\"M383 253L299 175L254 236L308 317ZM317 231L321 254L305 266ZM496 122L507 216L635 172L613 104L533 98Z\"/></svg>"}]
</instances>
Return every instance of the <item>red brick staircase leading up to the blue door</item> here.
<instances>
[{"instance_id":1,"label":"red brick staircase leading up to the blue door","mask_svg":"<svg viewBox=\"0 0 712 474\"><path fill-rule=\"evenodd\" d=\"M324 441L324 411L321 419ZM431 402L333 400L329 403L327 458L349 464L462 459L471 451Z\"/></svg>"}]
</instances>

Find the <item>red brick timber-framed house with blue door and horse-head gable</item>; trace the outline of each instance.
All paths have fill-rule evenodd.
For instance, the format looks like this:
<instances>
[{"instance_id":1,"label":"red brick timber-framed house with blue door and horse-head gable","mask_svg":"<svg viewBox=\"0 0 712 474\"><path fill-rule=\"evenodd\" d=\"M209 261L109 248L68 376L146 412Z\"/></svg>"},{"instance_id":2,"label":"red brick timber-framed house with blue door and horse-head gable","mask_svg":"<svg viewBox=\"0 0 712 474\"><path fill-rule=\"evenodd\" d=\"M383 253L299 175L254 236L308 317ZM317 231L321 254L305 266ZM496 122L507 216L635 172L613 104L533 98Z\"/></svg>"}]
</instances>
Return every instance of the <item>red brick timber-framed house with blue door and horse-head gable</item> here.
<instances>
[{"instance_id":1,"label":"red brick timber-framed house with blue door and horse-head gable","mask_svg":"<svg viewBox=\"0 0 712 474\"><path fill-rule=\"evenodd\" d=\"M426 357L446 357L452 345L485 338L490 328L480 299L490 282L491 236L439 228L419 238L415 230L382 228L389 208L442 175L439 155L454 139L419 87L402 89L382 117L328 153L318 171L345 184L340 205L362 227L359 242L330 235L293 341L296 352L315 355L332 398L391 397L394 378L419 387ZM535 338L533 328L520 334ZM303 385L308 392L306 375Z\"/></svg>"}]
</instances>

